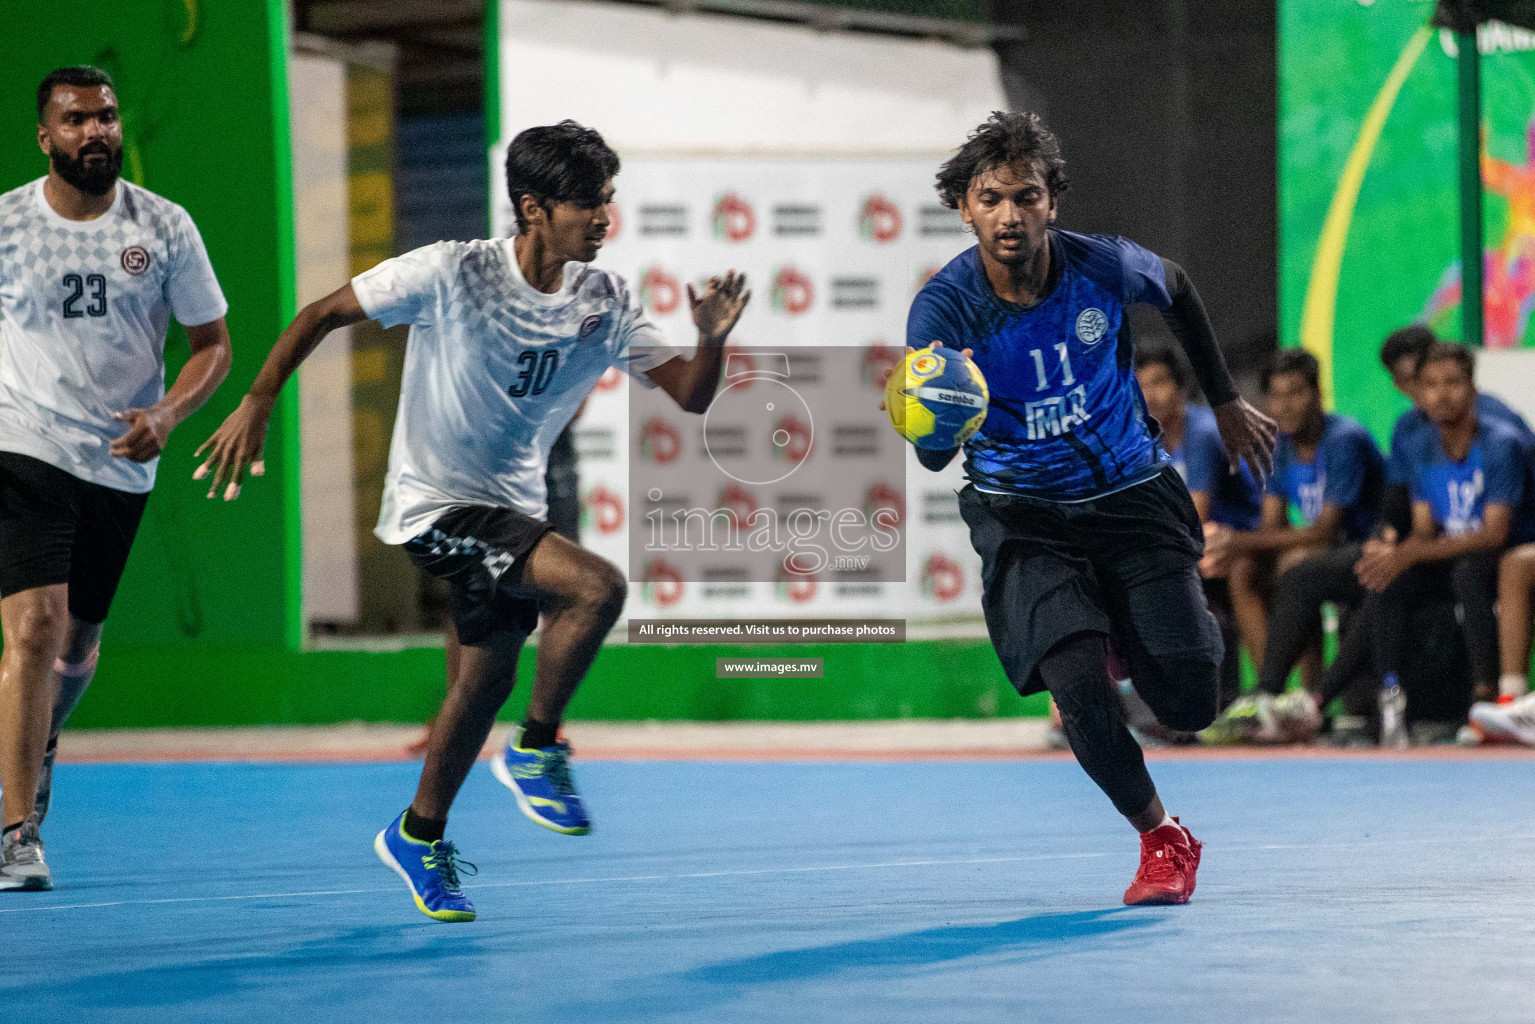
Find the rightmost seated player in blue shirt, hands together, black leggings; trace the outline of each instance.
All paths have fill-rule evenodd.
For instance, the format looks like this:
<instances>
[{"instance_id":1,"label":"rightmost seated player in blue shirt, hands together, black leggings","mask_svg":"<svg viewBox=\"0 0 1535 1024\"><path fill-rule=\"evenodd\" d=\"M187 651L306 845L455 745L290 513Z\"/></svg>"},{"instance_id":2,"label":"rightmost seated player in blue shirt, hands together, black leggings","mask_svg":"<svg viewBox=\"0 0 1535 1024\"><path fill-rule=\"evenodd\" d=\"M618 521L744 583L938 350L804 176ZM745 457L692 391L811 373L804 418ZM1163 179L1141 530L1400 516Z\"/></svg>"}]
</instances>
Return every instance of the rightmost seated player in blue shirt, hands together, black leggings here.
<instances>
[{"instance_id":1,"label":"rightmost seated player in blue shirt, hands together, black leggings","mask_svg":"<svg viewBox=\"0 0 1535 1024\"><path fill-rule=\"evenodd\" d=\"M1495 691L1498 679L1498 559L1510 543L1535 540L1529 451L1506 424L1477 413L1471 348L1435 342L1423 356L1417 388L1434 433L1417 433L1406 453L1412 533L1394 530L1365 545L1355 570L1371 591L1382 686L1400 685L1411 656L1414 606L1451 593L1460 608L1472 683ZM1464 706L1464 705L1461 705Z\"/></svg>"}]
</instances>

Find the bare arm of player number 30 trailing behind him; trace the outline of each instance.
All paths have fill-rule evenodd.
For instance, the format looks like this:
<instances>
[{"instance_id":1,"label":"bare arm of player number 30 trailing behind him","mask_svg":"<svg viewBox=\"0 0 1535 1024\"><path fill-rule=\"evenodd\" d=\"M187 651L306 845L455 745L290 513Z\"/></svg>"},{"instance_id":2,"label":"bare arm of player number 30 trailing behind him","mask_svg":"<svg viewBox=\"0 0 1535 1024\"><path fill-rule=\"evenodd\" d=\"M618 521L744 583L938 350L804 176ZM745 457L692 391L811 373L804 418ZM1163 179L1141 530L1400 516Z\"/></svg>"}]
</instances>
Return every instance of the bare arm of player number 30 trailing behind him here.
<instances>
[{"instance_id":1,"label":"bare arm of player number 30 trailing behind him","mask_svg":"<svg viewBox=\"0 0 1535 1024\"><path fill-rule=\"evenodd\" d=\"M362 312L350 282L299 310L293 322L272 345L250 391L239 399L239 405L213 431L213 436L196 450L198 456L206 453L207 457L192 474L192 479L201 481L212 474L213 479L207 488L209 497L223 488L224 500L235 500L239 497L239 485L247 468L252 476L261 476L266 471L261 451L266 447L272 408L276 405L282 385L309 353L315 352L325 339L325 335L364 319L367 319L367 313ZM180 384L180 379L177 382Z\"/></svg>"}]
</instances>

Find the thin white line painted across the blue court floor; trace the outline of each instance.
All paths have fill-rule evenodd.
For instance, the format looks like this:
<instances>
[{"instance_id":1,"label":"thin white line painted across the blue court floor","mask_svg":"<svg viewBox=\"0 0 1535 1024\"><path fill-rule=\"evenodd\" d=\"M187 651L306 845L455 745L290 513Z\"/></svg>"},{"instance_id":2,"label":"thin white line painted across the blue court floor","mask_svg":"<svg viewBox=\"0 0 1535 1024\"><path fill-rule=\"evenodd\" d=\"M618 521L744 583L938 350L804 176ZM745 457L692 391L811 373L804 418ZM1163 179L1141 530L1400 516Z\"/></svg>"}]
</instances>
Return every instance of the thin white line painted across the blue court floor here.
<instances>
[{"instance_id":1,"label":"thin white line painted across the blue court floor","mask_svg":"<svg viewBox=\"0 0 1535 1024\"><path fill-rule=\"evenodd\" d=\"M1266 854L1273 851L1319 851L1319 849L1366 849L1375 846L1434 846L1446 843L1489 843L1509 841L1527 843L1535 835L1480 835L1451 837L1443 840L1372 840L1362 843L1265 843L1260 846L1222 846L1220 854ZM810 867L746 867L740 870L698 870L682 875L608 875L596 878L543 878L537 881L487 881L476 883L473 889L522 889L531 886L591 886L632 881L688 881L695 878L744 878L751 875L803 875L832 870L886 870L890 867L962 867L967 864L1024 864L1032 861L1055 860L1091 860L1098 857L1114 857L1116 854L1038 854L1033 857L973 857L964 860L892 860L869 864L815 864ZM307 892L253 892L233 897L169 897L161 900L112 900L104 903L58 903L43 907L0 907L0 913L43 913L48 910L94 910L101 907L150 907L172 903L229 903L235 900L296 900L299 897L356 897L381 892L398 892L399 886L388 889L313 889ZM0 897L3 898L3 897Z\"/></svg>"}]
</instances>

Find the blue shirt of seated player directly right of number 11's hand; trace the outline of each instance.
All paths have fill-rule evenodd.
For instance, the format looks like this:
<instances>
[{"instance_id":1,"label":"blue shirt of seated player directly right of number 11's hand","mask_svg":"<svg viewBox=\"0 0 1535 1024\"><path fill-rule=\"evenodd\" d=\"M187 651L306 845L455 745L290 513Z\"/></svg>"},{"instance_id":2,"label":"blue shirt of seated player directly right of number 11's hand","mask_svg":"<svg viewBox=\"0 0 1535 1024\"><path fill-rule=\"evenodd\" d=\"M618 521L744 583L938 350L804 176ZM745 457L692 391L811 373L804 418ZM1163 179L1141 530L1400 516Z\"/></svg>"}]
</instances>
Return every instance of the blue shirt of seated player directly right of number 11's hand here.
<instances>
[{"instance_id":1,"label":"blue shirt of seated player directly right of number 11's hand","mask_svg":"<svg viewBox=\"0 0 1535 1024\"><path fill-rule=\"evenodd\" d=\"M1274 445L1274 473L1266 491L1283 497L1305 525L1322 514L1323 505L1343 510L1343 534L1363 540L1375 525L1380 494L1386 484L1386 461L1357 421L1326 413L1322 441L1311 462L1302 462L1291 434Z\"/></svg>"}]
</instances>

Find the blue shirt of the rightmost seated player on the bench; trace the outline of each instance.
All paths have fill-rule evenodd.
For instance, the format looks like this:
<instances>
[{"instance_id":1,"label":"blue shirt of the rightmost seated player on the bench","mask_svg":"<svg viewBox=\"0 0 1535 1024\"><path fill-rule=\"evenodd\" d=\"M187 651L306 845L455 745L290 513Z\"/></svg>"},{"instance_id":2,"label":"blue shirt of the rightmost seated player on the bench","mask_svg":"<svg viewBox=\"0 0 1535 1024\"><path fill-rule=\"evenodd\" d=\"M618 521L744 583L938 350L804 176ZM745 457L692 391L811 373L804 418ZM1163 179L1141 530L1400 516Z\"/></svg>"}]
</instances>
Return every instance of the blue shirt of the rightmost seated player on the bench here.
<instances>
[{"instance_id":1,"label":"blue shirt of the rightmost seated player on the bench","mask_svg":"<svg viewBox=\"0 0 1535 1024\"><path fill-rule=\"evenodd\" d=\"M1509 543L1526 543L1535 534L1530 508L1529 459L1518 431L1503 422L1480 419L1471 451L1461 462L1444 454L1440 433L1432 428L1412 436L1406 453L1412 500L1428 502L1434 522L1449 536L1481 530L1487 505L1514 510Z\"/></svg>"}]
</instances>

